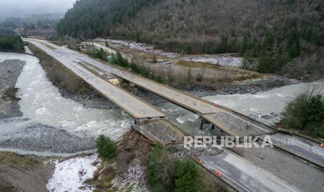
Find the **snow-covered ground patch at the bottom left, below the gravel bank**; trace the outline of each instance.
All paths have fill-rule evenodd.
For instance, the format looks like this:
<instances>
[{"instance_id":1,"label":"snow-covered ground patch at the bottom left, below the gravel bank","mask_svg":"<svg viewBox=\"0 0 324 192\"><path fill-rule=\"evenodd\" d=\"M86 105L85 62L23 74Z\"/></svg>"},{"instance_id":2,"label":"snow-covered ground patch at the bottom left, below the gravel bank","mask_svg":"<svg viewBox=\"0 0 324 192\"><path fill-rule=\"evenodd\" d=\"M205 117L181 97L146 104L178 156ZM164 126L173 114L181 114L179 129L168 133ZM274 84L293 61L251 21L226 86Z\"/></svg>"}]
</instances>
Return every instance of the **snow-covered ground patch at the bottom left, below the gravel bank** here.
<instances>
[{"instance_id":1,"label":"snow-covered ground patch at the bottom left, below the gravel bank","mask_svg":"<svg viewBox=\"0 0 324 192\"><path fill-rule=\"evenodd\" d=\"M76 157L63 162L56 161L54 175L47 183L49 191L93 191L92 187L84 184L86 179L93 178L93 173L97 170L97 166L93 163L100 162L98 155L86 157Z\"/></svg>"}]
</instances>

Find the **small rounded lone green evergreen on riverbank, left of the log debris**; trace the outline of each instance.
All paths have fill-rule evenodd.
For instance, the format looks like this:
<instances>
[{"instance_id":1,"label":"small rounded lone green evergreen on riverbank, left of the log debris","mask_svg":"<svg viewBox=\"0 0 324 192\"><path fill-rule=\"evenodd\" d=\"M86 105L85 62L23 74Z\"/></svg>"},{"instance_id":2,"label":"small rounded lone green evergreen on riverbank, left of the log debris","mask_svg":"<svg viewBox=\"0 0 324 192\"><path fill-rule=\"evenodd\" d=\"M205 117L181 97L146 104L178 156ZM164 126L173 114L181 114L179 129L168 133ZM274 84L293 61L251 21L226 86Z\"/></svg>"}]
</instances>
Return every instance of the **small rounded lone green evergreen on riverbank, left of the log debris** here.
<instances>
[{"instance_id":1,"label":"small rounded lone green evergreen on riverbank, left of the log debris","mask_svg":"<svg viewBox=\"0 0 324 192\"><path fill-rule=\"evenodd\" d=\"M96 141L97 150L100 157L112 159L117 155L117 146L110 138L100 135Z\"/></svg>"}]
</instances>

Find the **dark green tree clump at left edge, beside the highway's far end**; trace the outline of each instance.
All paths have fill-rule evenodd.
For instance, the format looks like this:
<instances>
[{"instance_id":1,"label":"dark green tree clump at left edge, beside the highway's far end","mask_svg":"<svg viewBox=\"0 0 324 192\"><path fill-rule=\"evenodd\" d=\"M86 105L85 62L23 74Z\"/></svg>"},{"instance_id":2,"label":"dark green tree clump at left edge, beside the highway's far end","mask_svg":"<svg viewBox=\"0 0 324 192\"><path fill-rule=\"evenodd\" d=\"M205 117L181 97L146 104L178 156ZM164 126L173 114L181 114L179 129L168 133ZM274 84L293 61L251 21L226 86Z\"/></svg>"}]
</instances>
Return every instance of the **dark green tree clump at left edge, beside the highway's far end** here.
<instances>
[{"instance_id":1,"label":"dark green tree clump at left edge, beside the highway's far end","mask_svg":"<svg viewBox=\"0 0 324 192\"><path fill-rule=\"evenodd\" d=\"M24 42L13 31L0 29L0 51L24 53Z\"/></svg>"}]
</instances>

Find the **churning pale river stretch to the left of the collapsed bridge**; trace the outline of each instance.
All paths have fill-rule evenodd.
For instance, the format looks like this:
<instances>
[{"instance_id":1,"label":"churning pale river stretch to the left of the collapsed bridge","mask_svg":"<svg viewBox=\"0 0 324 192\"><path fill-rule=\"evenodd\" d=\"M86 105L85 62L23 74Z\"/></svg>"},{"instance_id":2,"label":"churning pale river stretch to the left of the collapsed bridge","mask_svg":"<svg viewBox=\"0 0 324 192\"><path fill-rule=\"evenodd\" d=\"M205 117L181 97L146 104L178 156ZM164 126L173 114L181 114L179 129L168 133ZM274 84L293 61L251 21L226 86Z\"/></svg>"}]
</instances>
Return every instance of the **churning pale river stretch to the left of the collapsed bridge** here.
<instances>
[{"instance_id":1,"label":"churning pale river stretch to the left of the collapsed bridge","mask_svg":"<svg viewBox=\"0 0 324 192\"><path fill-rule=\"evenodd\" d=\"M73 100L61 97L59 90L47 79L38 58L25 54L0 53L1 61L20 59L26 64L17 79L17 97L21 118L1 120L0 135L26 125L41 123L65 129L79 136L105 134L116 140L130 129L132 118L120 109L89 109Z\"/></svg>"}]
</instances>

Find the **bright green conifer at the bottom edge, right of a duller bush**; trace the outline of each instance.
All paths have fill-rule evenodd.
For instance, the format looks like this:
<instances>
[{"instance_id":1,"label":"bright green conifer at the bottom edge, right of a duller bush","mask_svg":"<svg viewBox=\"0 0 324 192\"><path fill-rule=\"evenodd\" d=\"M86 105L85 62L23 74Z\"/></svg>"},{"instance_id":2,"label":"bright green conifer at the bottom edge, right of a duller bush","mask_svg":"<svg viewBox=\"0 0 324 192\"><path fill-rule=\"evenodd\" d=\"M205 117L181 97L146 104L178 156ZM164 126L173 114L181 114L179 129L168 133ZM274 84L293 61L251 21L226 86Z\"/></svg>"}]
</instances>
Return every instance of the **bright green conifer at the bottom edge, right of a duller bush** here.
<instances>
[{"instance_id":1,"label":"bright green conifer at the bottom edge, right of a duller bush","mask_svg":"<svg viewBox=\"0 0 324 192\"><path fill-rule=\"evenodd\" d=\"M199 191L199 168L191 159L178 162L176 168L176 192Z\"/></svg>"}]
</instances>

